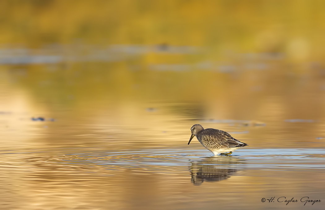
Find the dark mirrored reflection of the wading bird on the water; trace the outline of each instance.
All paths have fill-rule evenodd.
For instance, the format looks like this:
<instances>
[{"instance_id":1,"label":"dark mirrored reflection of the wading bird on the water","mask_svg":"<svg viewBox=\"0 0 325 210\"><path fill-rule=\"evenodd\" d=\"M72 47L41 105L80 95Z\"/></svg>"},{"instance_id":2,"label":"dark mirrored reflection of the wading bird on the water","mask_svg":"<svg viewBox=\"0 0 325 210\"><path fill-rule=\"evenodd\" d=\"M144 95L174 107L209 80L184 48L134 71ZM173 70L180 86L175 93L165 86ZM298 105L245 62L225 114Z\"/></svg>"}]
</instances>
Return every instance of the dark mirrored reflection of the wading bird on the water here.
<instances>
[{"instance_id":1,"label":"dark mirrored reflection of the wading bird on the water","mask_svg":"<svg viewBox=\"0 0 325 210\"><path fill-rule=\"evenodd\" d=\"M203 181L225 180L239 171L236 169L236 165L243 163L242 158L222 156L193 161L190 166L191 182L194 185L201 185Z\"/></svg>"}]
</instances>

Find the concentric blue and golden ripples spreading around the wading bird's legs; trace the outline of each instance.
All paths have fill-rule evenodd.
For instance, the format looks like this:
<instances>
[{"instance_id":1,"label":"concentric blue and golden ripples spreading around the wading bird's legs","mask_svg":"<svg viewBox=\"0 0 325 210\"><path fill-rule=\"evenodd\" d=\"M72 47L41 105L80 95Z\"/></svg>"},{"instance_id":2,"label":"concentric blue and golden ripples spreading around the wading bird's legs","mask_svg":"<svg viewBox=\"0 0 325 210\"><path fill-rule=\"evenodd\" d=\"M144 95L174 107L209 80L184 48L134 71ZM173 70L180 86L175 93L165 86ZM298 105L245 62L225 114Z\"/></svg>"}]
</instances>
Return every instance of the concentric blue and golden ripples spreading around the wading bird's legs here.
<instances>
[{"instance_id":1,"label":"concentric blue and golden ripples spreading around the wading bird's legs","mask_svg":"<svg viewBox=\"0 0 325 210\"><path fill-rule=\"evenodd\" d=\"M184 167L201 162L219 167L244 168L325 168L325 150L321 149L243 149L232 156L211 157L206 150L158 149L139 151L85 152L50 158L53 164L101 165L106 168Z\"/></svg>"}]
</instances>

